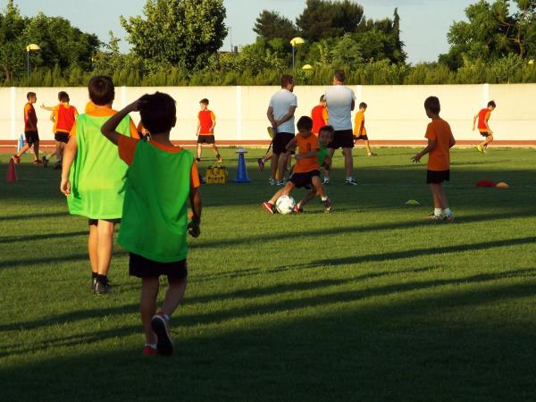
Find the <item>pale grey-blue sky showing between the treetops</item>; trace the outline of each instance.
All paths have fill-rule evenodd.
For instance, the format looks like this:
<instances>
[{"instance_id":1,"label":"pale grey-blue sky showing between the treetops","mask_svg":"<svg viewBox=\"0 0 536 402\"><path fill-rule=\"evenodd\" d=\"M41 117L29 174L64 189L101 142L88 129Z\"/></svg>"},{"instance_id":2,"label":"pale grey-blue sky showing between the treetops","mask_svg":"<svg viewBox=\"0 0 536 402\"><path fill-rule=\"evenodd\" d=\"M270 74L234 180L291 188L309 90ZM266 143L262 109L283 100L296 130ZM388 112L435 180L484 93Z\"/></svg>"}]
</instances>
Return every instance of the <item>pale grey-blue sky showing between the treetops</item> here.
<instances>
[{"instance_id":1,"label":"pale grey-blue sky showing between the treetops","mask_svg":"<svg viewBox=\"0 0 536 402\"><path fill-rule=\"evenodd\" d=\"M448 51L447 32L453 21L465 21L465 7L477 0L358 0L367 18L391 17L398 7L402 40L409 63L434 62L438 55ZM125 36L119 16L140 15L146 0L15 0L21 13L29 16L43 12L50 16L62 16L71 24L89 33L95 33L102 41L109 39L108 31L119 38ZM2 10L7 0L0 0ZM255 41L253 26L263 10L273 10L291 20L303 11L306 0L224 0L227 8L226 24L230 35L222 49L243 46ZM129 44L123 40L121 49Z\"/></svg>"}]
</instances>

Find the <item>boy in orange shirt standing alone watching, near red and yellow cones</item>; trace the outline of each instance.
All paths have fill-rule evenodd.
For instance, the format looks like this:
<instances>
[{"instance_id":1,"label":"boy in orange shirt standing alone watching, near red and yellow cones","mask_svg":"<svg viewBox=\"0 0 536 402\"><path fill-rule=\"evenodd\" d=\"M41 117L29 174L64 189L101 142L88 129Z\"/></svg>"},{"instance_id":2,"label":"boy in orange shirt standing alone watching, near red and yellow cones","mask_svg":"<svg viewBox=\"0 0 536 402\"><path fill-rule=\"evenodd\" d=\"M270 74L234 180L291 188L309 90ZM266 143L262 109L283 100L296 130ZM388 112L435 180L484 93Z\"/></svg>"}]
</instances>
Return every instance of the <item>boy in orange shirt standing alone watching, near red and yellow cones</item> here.
<instances>
[{"instance_id":1,"label":"boy in orange shirt standing alone watching, near red and yellow cones","mask_svg":"<svg viewBox=\"0 0 536 402\"><path fill-rule=\"evenodd\" d=\"M454 215L448 208L447 197L443 192L443 181L450 180L450 148L456 145L447 121L440 118L440 99L430 96L424 101L426 115L431 123L426 129L425 138L428 146L415 155L412 160L420 162L423 155L428 156L428 171L426 183L430 184L433 196L434 211L429 216L431 221L454 221ZM443 215L444 214L444 215Z\"/></svg>"}]
</instances>

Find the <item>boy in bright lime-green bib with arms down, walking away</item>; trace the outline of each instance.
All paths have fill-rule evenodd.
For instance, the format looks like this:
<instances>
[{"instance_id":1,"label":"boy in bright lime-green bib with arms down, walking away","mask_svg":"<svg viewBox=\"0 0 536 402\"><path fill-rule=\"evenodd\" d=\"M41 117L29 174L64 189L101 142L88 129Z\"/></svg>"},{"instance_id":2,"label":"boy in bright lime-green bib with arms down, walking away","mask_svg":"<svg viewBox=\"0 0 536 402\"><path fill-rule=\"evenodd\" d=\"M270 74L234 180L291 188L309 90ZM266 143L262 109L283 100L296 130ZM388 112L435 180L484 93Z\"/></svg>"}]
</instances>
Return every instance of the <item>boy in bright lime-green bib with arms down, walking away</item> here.
<instances>
[{"instance_id":1,"label":"boy in bright lime-green bib with arms down, walking away","mask_svg":"<svg viewBox=\"0 0 536 402\"><path fill-rule=\"evenodd\" d=\"M127 164L117 149L100 134L101 126L117 113L112 109L115 88L110 77L89 80L89 98L95 107L79 114L63 152L61 191L67 197L69 212L88 218L91 289L110 293L108 271L113 251L113 230L121 220ZM123 137L138 138L129 116L123 116L117 129Z\"/></svg>"}]
</instances>

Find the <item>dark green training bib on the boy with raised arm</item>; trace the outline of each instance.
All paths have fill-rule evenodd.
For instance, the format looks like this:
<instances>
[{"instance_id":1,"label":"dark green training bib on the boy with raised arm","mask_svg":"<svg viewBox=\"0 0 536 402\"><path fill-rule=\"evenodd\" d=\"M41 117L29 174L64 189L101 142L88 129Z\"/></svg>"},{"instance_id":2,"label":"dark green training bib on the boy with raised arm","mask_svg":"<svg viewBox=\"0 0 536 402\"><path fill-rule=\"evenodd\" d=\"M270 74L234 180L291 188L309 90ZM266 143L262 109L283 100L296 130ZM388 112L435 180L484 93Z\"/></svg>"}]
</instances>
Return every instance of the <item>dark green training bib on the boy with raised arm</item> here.
<instances>
[{"instance_id":1,"label":"dark green training bib on the boy with raised arm","mask_svg":"<svg viewBox=\"0 0 536 402\"><path fill-rule=\"evenodd\" d=\"M188 197L194 157L167 152L141 140L127 172L118 242L159 263L188 254Z\"/></svg>"}]
</instances>

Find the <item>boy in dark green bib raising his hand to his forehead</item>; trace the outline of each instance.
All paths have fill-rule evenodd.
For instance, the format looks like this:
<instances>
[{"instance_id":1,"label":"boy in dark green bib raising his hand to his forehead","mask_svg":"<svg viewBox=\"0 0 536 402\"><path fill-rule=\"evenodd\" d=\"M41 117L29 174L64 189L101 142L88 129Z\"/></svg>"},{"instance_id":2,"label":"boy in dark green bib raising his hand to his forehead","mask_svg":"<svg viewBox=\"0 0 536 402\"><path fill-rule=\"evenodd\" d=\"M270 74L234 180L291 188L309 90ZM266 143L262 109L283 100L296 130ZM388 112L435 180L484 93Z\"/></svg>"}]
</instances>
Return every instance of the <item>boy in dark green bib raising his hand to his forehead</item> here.
<instances>
[{"instance_id":1,"label":"boy in dark green bib raising his hand to his forehead","mask_svg":"<svg viewBox=\"0 0 536 402\"><path fill-rule=\"evenodd\" d=\"M121 136L117 128L122 119L137 111L150 136L141 140ZM156 92L126 106L101 128L129 165L118 241L130 251L130 275L141 278L139 310L147 356L172 354L169 320L186 290L187 233L194 238L200 234L197 164L191 153L172 145L170 131L176 122L175 101ZM193 212L189 223L188 199ZM156 314L161 275L167 276L168 289Z\"/></svg>"}]
</instances>

